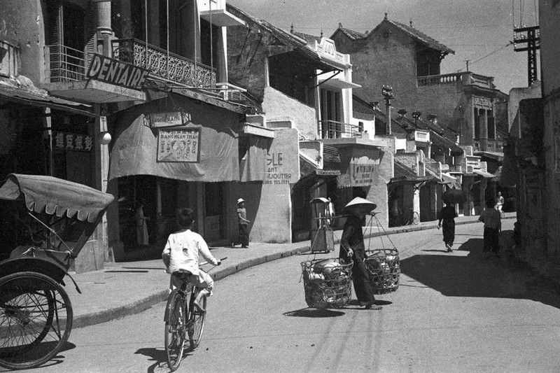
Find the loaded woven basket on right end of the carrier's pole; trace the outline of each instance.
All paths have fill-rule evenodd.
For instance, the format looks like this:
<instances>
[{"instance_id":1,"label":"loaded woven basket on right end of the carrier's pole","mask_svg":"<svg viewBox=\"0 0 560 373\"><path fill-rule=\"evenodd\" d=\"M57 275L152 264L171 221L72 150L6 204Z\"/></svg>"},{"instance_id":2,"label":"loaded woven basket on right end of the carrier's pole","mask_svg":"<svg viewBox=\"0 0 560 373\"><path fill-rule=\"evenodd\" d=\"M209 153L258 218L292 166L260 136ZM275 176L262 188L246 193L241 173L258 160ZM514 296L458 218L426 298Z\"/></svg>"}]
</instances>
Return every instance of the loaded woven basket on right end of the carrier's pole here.
<instances>
[{"instance_id":1,"label":"loaded woven basket on right end of the carrier's pole","mask_svg":"<svg viewBox=\"0 0 560 373\"><path fill-rule=\"evenodd\" d=\"M367 251L365 267L370 274L373 293L391 293L398 288L400 260L396 248Z\"/></svg>"}]
</instances>

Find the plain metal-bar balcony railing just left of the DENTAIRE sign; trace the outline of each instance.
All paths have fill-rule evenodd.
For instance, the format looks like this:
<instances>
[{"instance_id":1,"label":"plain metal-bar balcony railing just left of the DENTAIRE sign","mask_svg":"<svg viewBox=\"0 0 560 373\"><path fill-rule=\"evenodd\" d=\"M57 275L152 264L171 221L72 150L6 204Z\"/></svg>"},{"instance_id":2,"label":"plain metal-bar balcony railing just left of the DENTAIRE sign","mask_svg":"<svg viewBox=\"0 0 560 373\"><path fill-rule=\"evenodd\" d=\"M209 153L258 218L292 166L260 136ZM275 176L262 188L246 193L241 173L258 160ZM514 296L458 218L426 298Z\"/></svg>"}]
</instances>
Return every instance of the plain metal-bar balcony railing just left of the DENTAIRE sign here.
<instances>
[{"instance_id":1,"label":"plain metal-bar balcony railing just left of the DENTAIRE sign","mask_svg":"<svg viewBox=\"0 0 560 373\"><path fill-rule=\"evenodd\" d=\"M62 44L45 45L45 69L50 83L76 82L85 79L86 55Z\"/></svg>"}]
</instances>

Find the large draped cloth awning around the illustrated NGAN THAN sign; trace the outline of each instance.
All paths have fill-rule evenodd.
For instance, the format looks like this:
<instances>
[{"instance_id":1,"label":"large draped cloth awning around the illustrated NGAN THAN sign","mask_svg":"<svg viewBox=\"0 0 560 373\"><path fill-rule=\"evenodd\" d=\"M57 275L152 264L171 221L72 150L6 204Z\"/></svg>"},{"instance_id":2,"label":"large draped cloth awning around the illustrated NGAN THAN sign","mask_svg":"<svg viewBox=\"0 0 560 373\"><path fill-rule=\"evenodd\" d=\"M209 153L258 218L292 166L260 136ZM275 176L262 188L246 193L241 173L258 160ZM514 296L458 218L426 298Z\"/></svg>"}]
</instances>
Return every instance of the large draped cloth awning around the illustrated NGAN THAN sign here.
<instances>
[{"instance_id":1,"label":"large draped cloth awning around the illustrated NGAN THAN sign","mask_svg":"<svg viewBox=\"0 0 560 373\"><path fill-rule=\"evenodd\" d=\"M116 118L109 179L153 175L183 181L239 181L237 113L174 96L123 111ZM153 113L181 111L186 125L155 128ZM172 106L172 107L170 107Z\"/></svg>"}]
</instances>

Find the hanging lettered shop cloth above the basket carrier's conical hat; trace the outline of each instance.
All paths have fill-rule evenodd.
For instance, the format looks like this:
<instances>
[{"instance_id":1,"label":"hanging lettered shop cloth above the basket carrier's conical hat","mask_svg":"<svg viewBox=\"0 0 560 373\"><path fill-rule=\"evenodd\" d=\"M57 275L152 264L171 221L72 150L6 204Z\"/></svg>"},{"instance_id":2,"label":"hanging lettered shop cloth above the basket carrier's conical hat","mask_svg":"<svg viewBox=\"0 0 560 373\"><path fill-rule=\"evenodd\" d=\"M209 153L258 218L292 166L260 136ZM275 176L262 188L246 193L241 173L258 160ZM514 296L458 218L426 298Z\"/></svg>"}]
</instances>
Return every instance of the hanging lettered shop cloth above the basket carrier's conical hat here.
<instances>
[{"instance_id":1,"label":"hanging lettered shop cloth above the basket carrier's conical hat","mask_svg":"<svg viewBox=\"0 0 560 373\"><path fill-rule=\"evenodd\" d=\"M338 188L369 187L377 183L380 155L381 150L378 148L341 149Z\"/></svg>"}]
</instances>

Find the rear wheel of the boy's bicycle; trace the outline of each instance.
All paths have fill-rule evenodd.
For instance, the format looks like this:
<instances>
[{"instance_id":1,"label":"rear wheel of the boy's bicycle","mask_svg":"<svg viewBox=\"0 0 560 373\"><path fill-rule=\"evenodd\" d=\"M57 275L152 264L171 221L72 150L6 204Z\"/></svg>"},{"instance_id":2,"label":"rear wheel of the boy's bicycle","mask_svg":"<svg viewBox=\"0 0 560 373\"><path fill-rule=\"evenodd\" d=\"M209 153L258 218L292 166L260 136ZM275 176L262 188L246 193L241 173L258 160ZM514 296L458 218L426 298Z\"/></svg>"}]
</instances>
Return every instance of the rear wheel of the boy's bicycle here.
<instances>
[{"instance_id":1,"label":"rear wheel of the boy's bicycle","mask_svg":"<svg viewBox=\"0 0 560 373\"><path fill-rule=\"evenodd\" d=\"M181 364L185 348L186 315L185 302L179 290L173 290L167 299L167 321L165 323L165 352L167 365L174 371Z\"/></svg>"}]
</instances>

